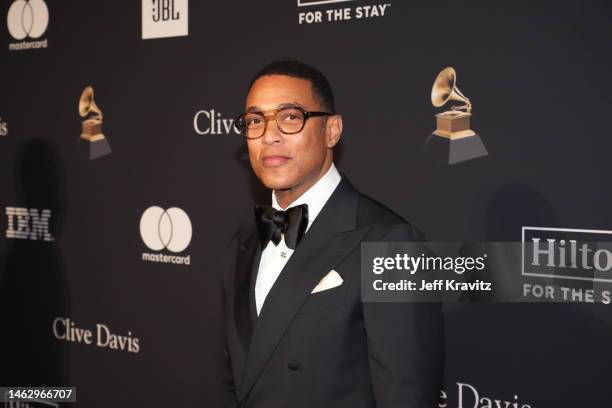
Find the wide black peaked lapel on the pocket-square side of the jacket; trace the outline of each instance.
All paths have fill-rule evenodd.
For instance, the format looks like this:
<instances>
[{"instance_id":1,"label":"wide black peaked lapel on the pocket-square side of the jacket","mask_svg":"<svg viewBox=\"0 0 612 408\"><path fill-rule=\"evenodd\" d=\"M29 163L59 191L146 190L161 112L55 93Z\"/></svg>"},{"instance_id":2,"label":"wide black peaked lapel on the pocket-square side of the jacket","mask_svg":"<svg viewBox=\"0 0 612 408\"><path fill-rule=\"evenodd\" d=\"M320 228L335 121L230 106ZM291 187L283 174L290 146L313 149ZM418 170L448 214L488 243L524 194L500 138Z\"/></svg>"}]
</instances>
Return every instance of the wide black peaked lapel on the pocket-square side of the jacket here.
<instances>
[{"instance_id":1,"label":"wide black peaked lapel on the pocket-square side of the jacket","mask_svg":"<svg viewBox=\"0 0 612 408\"><path fill-rule=\"evenodd\" d=\"M268 293L248 348L244 399L312 289L361 241L356 230L358 193L342 179Z\"/></svg>"}]
</instances>

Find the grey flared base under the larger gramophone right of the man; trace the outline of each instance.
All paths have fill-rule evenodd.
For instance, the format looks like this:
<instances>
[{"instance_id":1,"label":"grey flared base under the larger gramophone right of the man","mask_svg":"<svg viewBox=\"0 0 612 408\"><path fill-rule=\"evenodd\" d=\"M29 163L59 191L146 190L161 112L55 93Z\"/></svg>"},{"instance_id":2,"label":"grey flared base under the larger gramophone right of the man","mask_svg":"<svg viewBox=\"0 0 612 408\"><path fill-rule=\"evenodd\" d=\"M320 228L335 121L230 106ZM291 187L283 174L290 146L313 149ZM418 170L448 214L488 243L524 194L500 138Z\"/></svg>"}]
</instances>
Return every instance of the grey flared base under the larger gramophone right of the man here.
<instances>
[{"instance_id":1,"label":"grey flared base under the larger gramophone right of the man","mask_svg":"<svg viewBox=\"0 0 612 408\"><path fill-rule=\"evenodd\" d=\"M423 145L423 153L433 162L450 165L488 155L487 149L476 133L451 138L431 133Z\"/></svg>"}]
</instances>

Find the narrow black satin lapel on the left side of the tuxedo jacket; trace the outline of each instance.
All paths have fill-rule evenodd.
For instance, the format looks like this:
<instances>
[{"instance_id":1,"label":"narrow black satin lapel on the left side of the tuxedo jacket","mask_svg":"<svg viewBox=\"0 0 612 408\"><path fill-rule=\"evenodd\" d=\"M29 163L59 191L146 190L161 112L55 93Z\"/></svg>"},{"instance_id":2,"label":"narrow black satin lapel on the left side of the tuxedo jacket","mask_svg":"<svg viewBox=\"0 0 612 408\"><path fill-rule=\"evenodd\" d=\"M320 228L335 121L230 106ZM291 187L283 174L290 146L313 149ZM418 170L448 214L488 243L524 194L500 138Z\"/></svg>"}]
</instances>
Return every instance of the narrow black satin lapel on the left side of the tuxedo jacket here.
<instances>
[{"instance_id":1,"label":"narrow black satin lapel on the left side of the tuxedo jacket","mask_svg":"<svg viewBox=\"0 0 612 408\"><path fill-rule=\"evenodd\" d=\"M245 353L249 349L254 328L251 307L253 297L251 276L257 273L256 265L259 265L260 256L261 251L259 250L257 234L255 231L251 231L238 245L234 281L234 320Z\"/></svg>"}]
</instances>

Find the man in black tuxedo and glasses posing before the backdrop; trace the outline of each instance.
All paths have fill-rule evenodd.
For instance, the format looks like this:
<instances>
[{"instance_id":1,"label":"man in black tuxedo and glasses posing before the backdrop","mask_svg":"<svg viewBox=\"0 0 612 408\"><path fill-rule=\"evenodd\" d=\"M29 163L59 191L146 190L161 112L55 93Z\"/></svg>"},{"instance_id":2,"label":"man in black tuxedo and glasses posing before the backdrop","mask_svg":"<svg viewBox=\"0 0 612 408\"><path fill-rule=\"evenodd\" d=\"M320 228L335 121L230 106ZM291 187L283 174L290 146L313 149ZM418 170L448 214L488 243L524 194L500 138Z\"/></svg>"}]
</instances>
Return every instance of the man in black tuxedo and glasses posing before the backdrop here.
<instances>
[{"instance_id":1,"label":"man in black tuxedo and glasses posing before the backdrop","mask_svg":"<svg viewBox=\"0 0 612 408\"><path fill-rule=\"evenodd\" d=\"M230 406L435 407L440 305L362 302L360 290L361 242L422 236L335 167L342 117L327 79L300 62L272 63L235 125L272 206L256 206L228 247Z\"/></svg>"}]
</instances>

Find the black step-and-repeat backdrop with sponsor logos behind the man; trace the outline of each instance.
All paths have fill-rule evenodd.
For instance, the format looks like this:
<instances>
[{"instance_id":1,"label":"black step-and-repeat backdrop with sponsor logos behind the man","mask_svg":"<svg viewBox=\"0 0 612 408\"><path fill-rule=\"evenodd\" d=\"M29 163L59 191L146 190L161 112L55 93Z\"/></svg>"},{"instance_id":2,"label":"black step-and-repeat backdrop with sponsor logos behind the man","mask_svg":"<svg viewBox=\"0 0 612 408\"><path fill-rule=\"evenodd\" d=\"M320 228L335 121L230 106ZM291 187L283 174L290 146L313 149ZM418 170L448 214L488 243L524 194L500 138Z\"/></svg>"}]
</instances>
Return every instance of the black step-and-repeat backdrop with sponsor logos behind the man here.
<instances>
[{"instance_id":1,"label":"black step-and-repeat backdrop with sponsor logos behind the man","mask_svg":"<svg viewBox=\"0 0 612 408\"><path fill-rule=\"evenodd\" d=\"M270 201L232 121L278 59L326 74L337 166L429 240L605 241L611 18L606 1L3 0L0 385L222 406L218 254ZM439 407L612 406L612 305L592 295L612 253L596 258L572 304L446 305Z\"/></svg>"}]
</instances>

